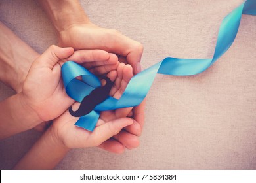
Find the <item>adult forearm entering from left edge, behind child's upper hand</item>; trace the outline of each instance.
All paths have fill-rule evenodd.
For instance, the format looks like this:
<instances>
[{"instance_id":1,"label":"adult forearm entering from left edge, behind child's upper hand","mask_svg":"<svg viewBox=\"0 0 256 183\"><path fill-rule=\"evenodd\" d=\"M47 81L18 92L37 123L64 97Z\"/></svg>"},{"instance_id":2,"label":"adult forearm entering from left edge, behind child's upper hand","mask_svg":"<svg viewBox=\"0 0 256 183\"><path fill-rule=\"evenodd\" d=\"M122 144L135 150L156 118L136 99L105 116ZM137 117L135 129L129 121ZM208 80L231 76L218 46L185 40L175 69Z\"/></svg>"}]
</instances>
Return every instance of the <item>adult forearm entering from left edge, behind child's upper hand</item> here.
<instances>
[{"instance_id":1,"label":"adult forearm entering from left edge, behind child's upper hand","mask_svg":"<svg viewBox=\"0 0 256 183\"><path fill-rule=\"evenodd\" d=\"M0 29L0 80L20 93L30 65L39 54L1 22Z\"/></svg>"}]
</instances>

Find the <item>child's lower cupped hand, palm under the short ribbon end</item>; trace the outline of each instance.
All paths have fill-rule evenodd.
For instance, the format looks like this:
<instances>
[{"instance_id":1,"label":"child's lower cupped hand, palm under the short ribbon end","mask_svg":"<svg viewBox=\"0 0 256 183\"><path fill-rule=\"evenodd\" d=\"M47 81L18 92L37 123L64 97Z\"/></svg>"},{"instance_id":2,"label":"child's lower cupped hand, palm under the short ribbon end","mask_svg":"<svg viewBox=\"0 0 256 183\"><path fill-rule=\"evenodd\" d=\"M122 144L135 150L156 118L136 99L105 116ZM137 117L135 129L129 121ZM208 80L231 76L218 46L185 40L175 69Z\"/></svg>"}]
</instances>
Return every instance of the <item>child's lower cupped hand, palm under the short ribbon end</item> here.
<instances>
[{"instance_id":1,"label":"child's lower cupped hand, palm under the short ribbon end","mask_svg":"<svg viewBox=\"0 0 256 183\"><path fill-rule=\"evenodd\" d=\"M119 64L117 71L108 73L110 80L114 81L116 79L110 95L116 98L121 97L121 94L132 76L133 71L131 65L124 65L123 63ZM79 103L75 103L72 108L76 110L78 107ZM109 151L116 152L115 148L119 148L118 146L123 148L123 144L114 139L110 139L110 137L117 135L123 127L135 122L132 118L125 118L131 109L132 108L122 108L119 109L119 112L117 112L117 110L101 112L100 119L93 132L76 127L74 124L78 118L71 116L67 110L62 116L54 120L52 126L53 130L51 131L54 133L53 137L56 137L55 139L57 139L59 143L68 148L100 146L103 142L105 144L118 143L108 148Z\"/></svg>"}]
</instances>

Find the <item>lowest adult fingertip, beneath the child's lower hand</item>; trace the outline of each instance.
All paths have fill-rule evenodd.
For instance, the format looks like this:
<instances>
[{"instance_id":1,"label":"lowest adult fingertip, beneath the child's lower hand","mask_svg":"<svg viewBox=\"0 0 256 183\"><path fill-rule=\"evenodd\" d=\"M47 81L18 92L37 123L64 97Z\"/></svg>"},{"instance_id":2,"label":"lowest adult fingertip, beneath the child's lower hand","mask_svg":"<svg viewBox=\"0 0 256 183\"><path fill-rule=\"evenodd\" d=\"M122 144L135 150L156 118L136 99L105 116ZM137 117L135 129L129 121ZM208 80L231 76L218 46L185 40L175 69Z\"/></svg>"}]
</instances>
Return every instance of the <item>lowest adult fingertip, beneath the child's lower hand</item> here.
<instances>
[{"instance_id":1,"label":"lowest adult fingertip, beneath the child's lower hand","mask_svg":"<svg viewBox=\"0 0 256 183\"><path fill-rule=\"evenodd\" d=\"M103 142L98 147L115 154L122 154L125 151L125 146L112 138Z\"/></svg>"}]
</instances>

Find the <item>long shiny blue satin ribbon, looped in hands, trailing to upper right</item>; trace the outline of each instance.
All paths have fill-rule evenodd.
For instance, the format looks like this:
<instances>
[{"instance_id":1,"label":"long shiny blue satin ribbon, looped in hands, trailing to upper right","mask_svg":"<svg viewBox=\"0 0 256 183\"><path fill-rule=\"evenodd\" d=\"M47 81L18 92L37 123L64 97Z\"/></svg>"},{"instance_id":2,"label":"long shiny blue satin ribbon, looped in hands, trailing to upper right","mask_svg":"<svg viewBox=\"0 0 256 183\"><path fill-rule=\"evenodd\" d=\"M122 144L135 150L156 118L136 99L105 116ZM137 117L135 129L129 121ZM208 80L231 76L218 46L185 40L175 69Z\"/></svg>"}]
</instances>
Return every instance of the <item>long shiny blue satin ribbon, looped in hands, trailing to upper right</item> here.
<instances>
[{"instance_id":1,"label":"long shiny blue satin ribbon, looped in hands, trailing to upper right","mask_svg":"<svg viewBox=\"0 0 256 183\"><path fill-rule=\"evenodd\" d=\"M97 105L92 112L79 118L75 125L93 131L100 116L100 111L139 105L150 90L157 73L176 76L202 73L230 48L238 32L242 14L256 15L256 0L245 1L223 19L219 28L213 58L165 58L133 76L119 100L108 97L104 102ZM82 76L82 80L77 80L75 78L77 76ZM66 93L78 102L81 102L83 97L89 95L92 90L100 86L100 80L95 75L73 61L68 61L62 65L62 78Z\"/></svg>"}]
</instances>

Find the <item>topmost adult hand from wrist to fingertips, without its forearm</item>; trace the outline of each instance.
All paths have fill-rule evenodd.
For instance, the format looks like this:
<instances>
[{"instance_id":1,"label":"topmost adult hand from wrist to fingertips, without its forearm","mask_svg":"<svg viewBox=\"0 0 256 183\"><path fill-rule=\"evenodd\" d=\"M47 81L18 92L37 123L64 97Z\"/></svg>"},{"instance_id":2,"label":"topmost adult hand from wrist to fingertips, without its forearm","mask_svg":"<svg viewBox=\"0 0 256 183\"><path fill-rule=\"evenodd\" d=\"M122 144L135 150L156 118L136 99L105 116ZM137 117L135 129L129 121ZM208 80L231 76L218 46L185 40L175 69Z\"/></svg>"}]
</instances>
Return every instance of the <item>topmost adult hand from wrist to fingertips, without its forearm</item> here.
<instances>
[{"instance_id":1,"label":"topmost adult hand from wrist to fingertips, without its forearm","mask_svg":"<svg viewBox=\"0 0 256 183\"><path fill-rule=\"evenodd\" d=\"M114 53L119 61L133 67L133 73L141 71L142 44L114 29L98 27L91 22L74 24L58 34L58 42L60 46L71 46L75 50L100 49Z\"/></svg>"}]
</instances>

